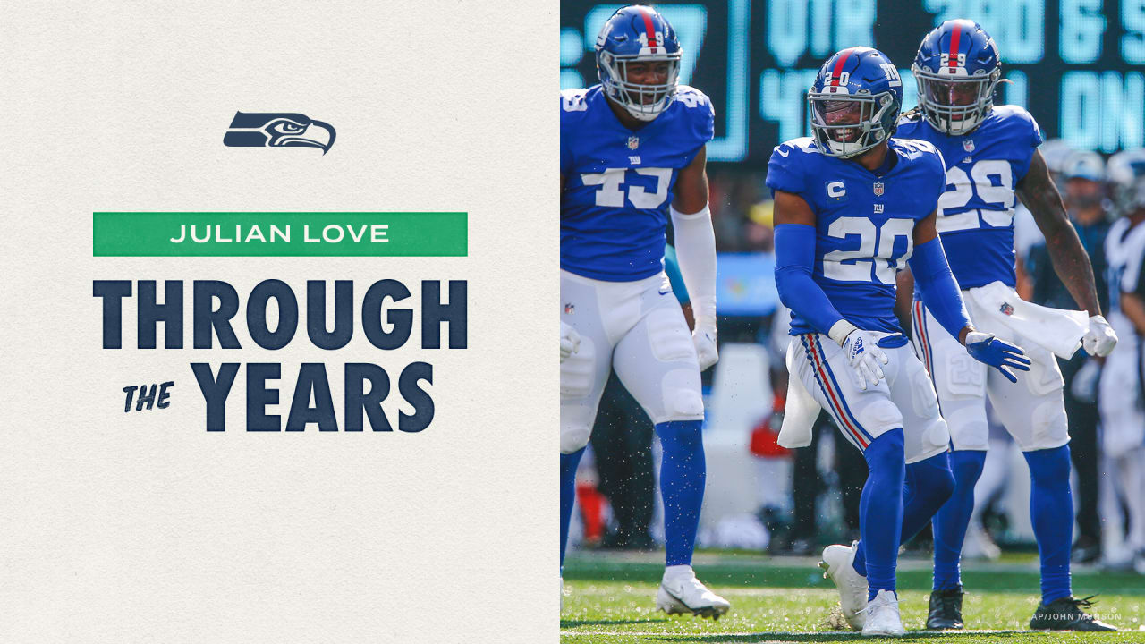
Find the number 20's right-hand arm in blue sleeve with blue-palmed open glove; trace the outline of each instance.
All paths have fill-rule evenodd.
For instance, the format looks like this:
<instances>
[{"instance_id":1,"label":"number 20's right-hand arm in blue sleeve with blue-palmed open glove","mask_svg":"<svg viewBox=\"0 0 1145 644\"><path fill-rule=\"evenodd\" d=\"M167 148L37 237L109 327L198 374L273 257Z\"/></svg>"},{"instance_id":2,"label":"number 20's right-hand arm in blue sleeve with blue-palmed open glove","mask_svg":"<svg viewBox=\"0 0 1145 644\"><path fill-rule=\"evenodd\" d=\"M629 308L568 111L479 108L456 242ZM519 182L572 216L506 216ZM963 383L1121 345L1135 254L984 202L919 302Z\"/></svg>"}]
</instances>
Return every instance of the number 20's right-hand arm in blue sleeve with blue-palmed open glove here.
<instances>
[{"instance_id":1,"label":"number 20's right-hand arm in blue sleeve with blue-palmed open glove","mask_svg":"<svg viewBox=\"0 0 1145 644\"><path fill-rule=\"evenodd\" d=\"M914 229L915 252L907 260L910 273L922 293L923 304L930 309L938 323L958 341L965 345L966 353L974 360L995 367L1002 375L1017 383L1018 378L1010 369L1029 371L1029 359L1020 347L1002 341L992 333L974 330L962 300L958 282L950 273L946 261L946 251L938 237L934 222L938 212L932 212L921 220Z\"/></svg>"}]
</instances>

